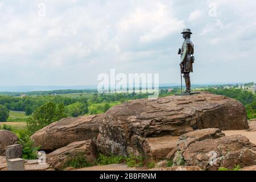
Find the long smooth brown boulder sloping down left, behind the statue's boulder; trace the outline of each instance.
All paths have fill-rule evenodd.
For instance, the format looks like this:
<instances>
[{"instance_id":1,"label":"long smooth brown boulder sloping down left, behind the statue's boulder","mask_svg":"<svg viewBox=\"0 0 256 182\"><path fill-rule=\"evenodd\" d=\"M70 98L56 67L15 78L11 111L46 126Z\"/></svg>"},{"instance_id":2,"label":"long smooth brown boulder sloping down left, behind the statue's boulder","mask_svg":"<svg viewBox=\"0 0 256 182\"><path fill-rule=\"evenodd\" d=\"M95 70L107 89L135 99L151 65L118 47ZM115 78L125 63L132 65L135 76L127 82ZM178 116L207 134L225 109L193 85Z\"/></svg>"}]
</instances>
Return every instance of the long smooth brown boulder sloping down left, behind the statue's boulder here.
<instances>
[{"instance_id":1,"label":"long smooth brown boulder sloping down left, behind the statue's boulder","mask_svg":"<svg viewBox=\"0 0 256 182\"><path fill-rule=\"evenodd\" d=\"M35 146L52 152L72 142L96 139L102 119L102 114L61 119L37 131L31 138Z\"/></svg>"}]
</instances>

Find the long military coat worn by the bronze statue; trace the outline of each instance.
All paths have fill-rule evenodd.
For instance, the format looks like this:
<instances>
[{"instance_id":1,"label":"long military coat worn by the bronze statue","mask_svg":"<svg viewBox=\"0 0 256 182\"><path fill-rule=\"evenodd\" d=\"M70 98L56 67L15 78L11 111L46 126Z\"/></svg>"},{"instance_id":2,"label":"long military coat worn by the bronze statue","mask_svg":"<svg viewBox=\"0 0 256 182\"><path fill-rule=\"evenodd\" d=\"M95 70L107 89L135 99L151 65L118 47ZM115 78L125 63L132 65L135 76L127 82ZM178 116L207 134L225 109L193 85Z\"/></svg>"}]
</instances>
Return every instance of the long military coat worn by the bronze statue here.
<instances>
[{"instance_id":1,"label":"long military coat worn by the bronze statue","mask_svg":"<svg viewBox=\"0 0 256 182\"><path fill-rule=\"evenodd\" d=\"M180 62L183 64L183 73L193 72L193 61L191 55L194 53L194 45L189 38L184 40L181 48Z\"/></svg>"}]
</instances>

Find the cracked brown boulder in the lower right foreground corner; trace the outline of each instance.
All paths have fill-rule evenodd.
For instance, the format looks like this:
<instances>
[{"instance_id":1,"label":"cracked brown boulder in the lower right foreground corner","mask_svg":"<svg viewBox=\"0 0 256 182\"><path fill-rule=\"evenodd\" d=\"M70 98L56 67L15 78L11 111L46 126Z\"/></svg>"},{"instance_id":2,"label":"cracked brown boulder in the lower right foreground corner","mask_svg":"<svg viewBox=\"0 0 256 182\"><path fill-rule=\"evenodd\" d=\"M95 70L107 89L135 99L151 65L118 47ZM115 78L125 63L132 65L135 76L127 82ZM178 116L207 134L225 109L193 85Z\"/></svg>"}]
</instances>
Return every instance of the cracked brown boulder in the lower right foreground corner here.
<instances>
[{"instance_id":1,"label":"cracked brown boulder in the lower right foreground corner","mask_svg":"<svg viewBox=\"0 0 256 182\"><path fill-rule=\"evenodd\" d=\"M179 137L176 166L199 166L204 170L228 169L256 164L256 146L242 135L226 137L220 129L192 131Z\"/></svg>"}]
</instances>

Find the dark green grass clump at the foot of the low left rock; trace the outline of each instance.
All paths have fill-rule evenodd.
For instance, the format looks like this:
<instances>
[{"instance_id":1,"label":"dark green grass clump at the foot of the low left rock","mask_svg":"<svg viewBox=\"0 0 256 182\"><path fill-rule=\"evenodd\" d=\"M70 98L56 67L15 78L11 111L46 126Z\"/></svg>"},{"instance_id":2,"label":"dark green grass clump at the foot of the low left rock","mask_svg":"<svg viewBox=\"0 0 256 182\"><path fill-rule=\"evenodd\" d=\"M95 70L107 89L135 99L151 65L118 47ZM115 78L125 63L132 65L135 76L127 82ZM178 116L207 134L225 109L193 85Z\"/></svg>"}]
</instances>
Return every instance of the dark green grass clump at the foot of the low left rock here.
<instances>
[{"instance_id":1,"label":"dark green grass clump at the foot of the low left rock","mask_svg":"<svg viewBox=\"0 0 256 182\"><path fill-rule=\"evenodd\" d=\"M73 167L76 169L93 166L86 160L84 152L76 152L75 154L69 155L67 162L65 162L63 168Z\"/></svg>"}]
</instances>

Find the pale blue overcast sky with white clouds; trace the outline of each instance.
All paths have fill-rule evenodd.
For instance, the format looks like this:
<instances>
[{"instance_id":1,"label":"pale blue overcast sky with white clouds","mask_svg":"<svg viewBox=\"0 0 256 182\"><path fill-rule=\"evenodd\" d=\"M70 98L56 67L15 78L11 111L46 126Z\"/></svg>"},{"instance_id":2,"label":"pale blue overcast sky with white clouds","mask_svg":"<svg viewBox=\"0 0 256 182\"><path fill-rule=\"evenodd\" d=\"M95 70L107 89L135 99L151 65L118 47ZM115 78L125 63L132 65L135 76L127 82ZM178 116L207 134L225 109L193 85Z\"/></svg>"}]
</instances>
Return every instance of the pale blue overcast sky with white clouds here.
<instances>
[{"instance_id":1,"label":"pale blue overcast sky with white clouds","mask_svg":"<svg viewBox=\"0 0 256 182\"><path fill-rule=\"evenodd\" d=\"M111 68L177 83L183 28L193 83L256 81L255 17L252 0L0 1L0 85L93 85Z\"/></svg>"}]
</instances>

